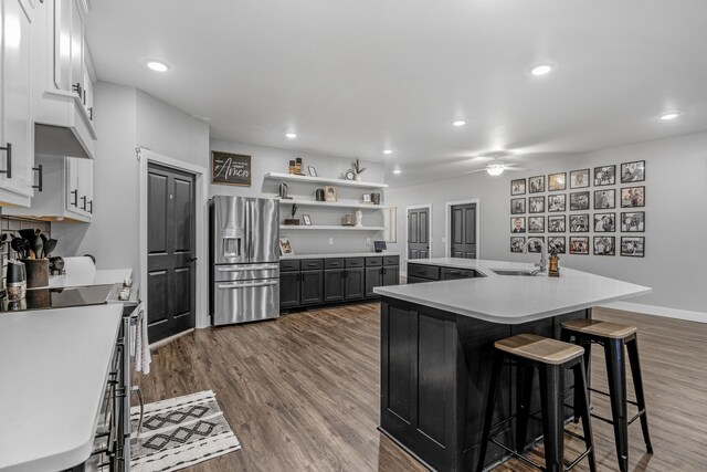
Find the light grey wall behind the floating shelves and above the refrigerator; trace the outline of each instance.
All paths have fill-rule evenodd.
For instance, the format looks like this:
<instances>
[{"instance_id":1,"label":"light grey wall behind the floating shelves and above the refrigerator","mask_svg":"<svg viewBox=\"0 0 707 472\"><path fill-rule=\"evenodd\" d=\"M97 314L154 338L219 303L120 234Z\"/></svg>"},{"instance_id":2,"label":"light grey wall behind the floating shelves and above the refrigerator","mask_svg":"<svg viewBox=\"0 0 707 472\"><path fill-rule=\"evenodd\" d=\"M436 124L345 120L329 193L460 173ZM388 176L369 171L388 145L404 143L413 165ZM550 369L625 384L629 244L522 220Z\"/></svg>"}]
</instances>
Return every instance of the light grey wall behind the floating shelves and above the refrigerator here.
<instances>
[{"instance_id":1,"label":"light grey wall behind the floating shelves and above the refrigerator","mask_svg":"<svg viewBox=\"0 0 707 472\"><path fill-rule=\"evenodd\" d=\"M274 198L277 196L279 181L264 179L267 172L287 172L291 159L302 157L304 170L307 166L314 166L319 177L340 177L347 169L351 168L354 158L344 159L331 156L321 156L309 153L298 153L287 149L278 149L273 147L253 146L239 143L230 143L222 140L212 140L211 150L220 150L234 154L245 154L252 156L252 180L251 187L234 187L212 185L210 196L214 195L232 195L247 197ZM361 174L365 181L382 182L384 179L384 166L374 162L361 162L366 171ZM209 166L208 166L209 167ZM294 198L303 198L314 200L315 189L323 186L312 183L287 182L289 186L289 195ZM379 190L370 189L350 189L338 187L340 200L361 200L362 193L370 193ZM384 192L381 197L384 200ZM381 204L382 207L383 204ZM281 221L289 218L291 206L283 204L281 207ZM365 225L383 225L383 216L381 211L362 207ZM355 209L331 208L321 209L313 207L298 207L295 218L302 220L302 214L309 214L313 224L340 224L345 213L352 213ZM335 252L368 252L372 251L372 245L367 244L367 238L371 241L382 239L382 232L346 232L346 231L303 231L303 230L283 230L283 238L289 238L289 241L298 254L326 254ZM329 238L333 244L329 244Z\"/></svg>"}]
</instances>

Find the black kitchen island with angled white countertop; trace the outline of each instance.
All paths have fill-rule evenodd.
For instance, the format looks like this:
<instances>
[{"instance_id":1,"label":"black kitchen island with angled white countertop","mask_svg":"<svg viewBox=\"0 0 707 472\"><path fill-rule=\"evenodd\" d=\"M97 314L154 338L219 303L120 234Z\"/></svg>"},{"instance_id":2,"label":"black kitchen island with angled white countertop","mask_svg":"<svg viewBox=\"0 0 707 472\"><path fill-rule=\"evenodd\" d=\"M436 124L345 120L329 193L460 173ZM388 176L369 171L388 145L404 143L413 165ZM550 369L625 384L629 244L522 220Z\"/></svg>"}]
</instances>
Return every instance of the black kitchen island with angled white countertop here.
<instances>
[{"instance_id":1,"label":"black kitchen island with angled white countertop","mask_svg":"<svg viewBox=\"0 0 707 472\"><path fill-rule=\"evenodd\" d=\"M530 272L531 264L441 258L414 260L431 280L443 269L469 279L376 289L381 295L380 429L433 470L475 470L490 378L493 344L520 333L559 338L561 323L591 317L595 305L651 293L651 289L561 269L559 279ZM421 282L421 281L416 281ZM516 410L507 368L495 421ZM567 374L566 387L573 384ZM537 386L536 386L537 388ZM571 389L569 390L571 402ZM539 411L534 395L531 411ZM569 411L568 411L569 413ZM503 441L513 444L514 423ZM541 434L540 424L528 438ZM492 464L504 454L493 444Z\"/></svg>"}]
</instances>

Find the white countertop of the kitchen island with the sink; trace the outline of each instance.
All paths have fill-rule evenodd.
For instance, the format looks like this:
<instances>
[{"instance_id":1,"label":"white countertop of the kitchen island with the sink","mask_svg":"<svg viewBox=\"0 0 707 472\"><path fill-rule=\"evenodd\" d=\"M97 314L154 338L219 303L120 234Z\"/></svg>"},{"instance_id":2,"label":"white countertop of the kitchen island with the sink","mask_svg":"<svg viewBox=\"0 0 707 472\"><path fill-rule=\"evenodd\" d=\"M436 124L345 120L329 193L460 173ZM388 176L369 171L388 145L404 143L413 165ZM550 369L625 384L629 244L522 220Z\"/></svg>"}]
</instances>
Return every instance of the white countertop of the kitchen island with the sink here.
<instances>
[{"instance_id":1,"label":"white countertop of the kitchen island with the sink","mask_svg":"<svg viewBox=\"0 0 707 472\"><path fill-rule=\"evenodd\" d=\"M408 263L474 269L485 277L377 287L382 296L503 324L521 324L652 292L646 286L560 266L560 277L498 275L529 263L437 258Z\"/></svg>"}]
</instances>

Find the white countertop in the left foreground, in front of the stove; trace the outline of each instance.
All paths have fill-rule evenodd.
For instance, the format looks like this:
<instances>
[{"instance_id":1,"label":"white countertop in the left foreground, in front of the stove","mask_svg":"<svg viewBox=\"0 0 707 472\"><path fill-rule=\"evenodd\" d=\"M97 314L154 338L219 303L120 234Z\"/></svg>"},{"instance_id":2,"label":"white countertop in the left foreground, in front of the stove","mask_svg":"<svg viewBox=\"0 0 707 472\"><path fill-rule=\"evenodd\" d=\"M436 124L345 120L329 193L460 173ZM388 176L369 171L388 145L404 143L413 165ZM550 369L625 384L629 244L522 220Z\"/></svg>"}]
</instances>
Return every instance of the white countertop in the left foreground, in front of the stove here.
<instances>
[{"instance_id":1,"label":"white countertop in the left foreground, in front of the stove","mask_svg":"<svg viewBox=\"0 0 707 472\"><path fill-rule=\"evenodd\" d=\"M0 471L88 459L123 305L0 314Z\"/></svg>"}]
</instances>

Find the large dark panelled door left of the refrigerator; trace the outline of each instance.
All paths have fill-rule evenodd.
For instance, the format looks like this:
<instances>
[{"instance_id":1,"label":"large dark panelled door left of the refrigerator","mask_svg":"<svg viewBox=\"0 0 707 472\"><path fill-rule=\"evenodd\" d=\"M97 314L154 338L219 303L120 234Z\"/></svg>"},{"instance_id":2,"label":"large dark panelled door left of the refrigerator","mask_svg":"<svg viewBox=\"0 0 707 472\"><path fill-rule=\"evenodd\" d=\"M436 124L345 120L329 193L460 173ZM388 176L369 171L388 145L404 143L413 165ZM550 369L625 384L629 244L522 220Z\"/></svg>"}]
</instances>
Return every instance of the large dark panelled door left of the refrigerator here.
<instances>
[{"instance_id":1,"label":"large dark panelled door left of the refrigerator","mask_svg":"<svg viewBox=\"0 0 707 472\"><path fill-rule=\"evenodd\" d=\"M194 327L194 176L150 164L147 180L150 343Z\"/></svg>"}]
</instances>

